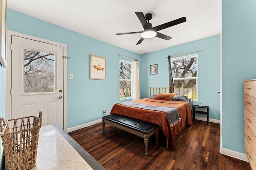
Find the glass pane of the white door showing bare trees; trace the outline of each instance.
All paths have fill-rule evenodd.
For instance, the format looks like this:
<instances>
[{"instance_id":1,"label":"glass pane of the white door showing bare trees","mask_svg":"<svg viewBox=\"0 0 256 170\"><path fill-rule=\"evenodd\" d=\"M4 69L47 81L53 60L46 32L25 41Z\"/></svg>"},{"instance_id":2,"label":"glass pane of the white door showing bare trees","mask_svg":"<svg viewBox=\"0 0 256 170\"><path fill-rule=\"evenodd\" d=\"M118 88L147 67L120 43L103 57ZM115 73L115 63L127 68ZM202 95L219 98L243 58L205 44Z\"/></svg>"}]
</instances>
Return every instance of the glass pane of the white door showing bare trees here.
<instances>
[{"instance_id":1,"label":"glass pane of the white door showing bare trees","mask_svg":"<svg viewBox=\"0 0 256 170\"><path fill-rule=\"evenodd\" d=\"M54 92L55 56L24 49L24 93Z\"/></svg>"}]
</instances>

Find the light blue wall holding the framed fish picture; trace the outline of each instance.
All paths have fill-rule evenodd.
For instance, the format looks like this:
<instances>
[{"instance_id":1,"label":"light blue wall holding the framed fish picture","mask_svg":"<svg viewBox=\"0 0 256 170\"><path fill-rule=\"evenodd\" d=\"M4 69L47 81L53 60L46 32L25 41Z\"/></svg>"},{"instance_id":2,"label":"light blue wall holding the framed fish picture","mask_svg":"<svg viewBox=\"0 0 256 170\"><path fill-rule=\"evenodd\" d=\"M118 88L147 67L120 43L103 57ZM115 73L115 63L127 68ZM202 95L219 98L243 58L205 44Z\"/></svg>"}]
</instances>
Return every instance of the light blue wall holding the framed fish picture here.
<instances>
[{"instance_id":1,"label":"light blue wall holding the framed fish picture","mask_svg":"<svg viewBox=\"0 0 256 170\"><path fill-rule=\"evenodd\" d=\"M68 45L68 128L102 118L119 102L119 54L140 55L8 9L7 29ZM86 29L86 28L85 28ZM106 80L90 79L90 54L106 58Z\"/></svg>"}]
</instances>

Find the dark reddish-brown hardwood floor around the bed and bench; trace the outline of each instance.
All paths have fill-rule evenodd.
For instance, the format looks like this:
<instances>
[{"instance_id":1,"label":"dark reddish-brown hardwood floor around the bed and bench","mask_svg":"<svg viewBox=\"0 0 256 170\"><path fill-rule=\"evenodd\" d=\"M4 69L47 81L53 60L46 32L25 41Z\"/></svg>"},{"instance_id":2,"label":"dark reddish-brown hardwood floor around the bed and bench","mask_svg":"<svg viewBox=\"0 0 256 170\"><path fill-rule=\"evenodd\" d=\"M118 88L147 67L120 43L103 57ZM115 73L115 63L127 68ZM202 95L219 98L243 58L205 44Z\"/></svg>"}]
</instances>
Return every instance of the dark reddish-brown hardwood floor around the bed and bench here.
<instances>
[{"instance_id":1,"label":"dark reddish-brown hardwood floor around the bed and bench","mask_svg":"<svg viewBox=\"0 0 256 170\"><path fill-rule=\"evenodd\" d=\"M148 156L144 139L102 123L68 133L107 170L251 170L248 162L220 154L220 124L195 120L177 136L176 148L166 149L150 137Z\"/></svg>"}]
</instances>

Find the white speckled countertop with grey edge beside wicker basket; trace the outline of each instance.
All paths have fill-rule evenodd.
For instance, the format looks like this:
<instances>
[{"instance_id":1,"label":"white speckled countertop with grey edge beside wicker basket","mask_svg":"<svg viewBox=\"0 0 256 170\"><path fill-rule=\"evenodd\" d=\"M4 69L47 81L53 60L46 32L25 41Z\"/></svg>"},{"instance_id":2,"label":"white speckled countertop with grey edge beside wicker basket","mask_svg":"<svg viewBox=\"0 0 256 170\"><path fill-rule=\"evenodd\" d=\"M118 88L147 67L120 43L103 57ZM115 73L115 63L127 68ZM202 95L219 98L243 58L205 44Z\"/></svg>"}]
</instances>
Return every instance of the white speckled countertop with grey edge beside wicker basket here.
<instances>
[{"instance_id":1,"label":"white speckled countertop with grey edge beside wicker basket","mask_svg":"<svg viewBox=\"0 0 256 170\"><path fill-rule=\"evenodd\" d=\"M58 125L40 128L36 167L32 170L92 170L88 162L96 169L104 169Z\"/></svg>"}]
</instances>

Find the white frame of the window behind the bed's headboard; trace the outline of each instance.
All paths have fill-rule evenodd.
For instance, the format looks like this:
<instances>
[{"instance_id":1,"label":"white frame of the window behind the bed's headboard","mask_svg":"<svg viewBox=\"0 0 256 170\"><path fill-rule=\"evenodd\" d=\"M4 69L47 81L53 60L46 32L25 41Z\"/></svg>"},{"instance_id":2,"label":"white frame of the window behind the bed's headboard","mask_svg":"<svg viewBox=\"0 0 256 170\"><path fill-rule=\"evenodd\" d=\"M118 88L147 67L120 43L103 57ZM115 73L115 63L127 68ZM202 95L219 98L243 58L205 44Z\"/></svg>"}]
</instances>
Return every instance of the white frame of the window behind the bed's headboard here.
<instances>
[{"instance_id":1,"label":"white frame of the window behind the bed's headboard","mask_svg":"<svg viewBox=\"0 0 256 170\"><path fill-rule=\"evenodd\" d=\"M184 56L184 57L176 57L171 59L171 63L174 60L180 60L180 59L189 59L189 58L196 58L196 77L188 77L188 78L174 78L173 77L173 81L174 80L196 80L196 99L193 99L193 101L198 101L198 54L194 54L194 55L188 55L188 56ZM171 64L172 66L172 64ZM175 88L175 86L174 86Z\"/></svg>"}]
</instances>

